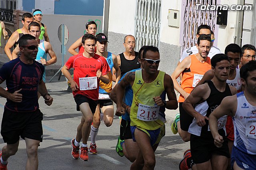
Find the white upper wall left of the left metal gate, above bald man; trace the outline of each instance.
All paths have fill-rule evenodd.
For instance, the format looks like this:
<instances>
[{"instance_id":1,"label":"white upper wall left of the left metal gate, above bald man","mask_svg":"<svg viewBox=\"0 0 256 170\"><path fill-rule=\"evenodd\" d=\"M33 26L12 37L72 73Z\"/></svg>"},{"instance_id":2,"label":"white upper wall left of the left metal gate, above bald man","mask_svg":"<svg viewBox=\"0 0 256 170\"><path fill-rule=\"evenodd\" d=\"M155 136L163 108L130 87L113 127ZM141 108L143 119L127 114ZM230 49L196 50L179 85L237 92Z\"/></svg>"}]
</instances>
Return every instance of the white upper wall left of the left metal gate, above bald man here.
<instances>
[{"instance_id":1,"label":"white upper wall left of the left metal gate, above bald man","mask_svg":"<svg viewBox=\"0 0 256 170\"><path fill-rule=\"evenodd\" d=\"M135 0L110 0L108 31L134 35Z\"/></svg>"}]
</instances>

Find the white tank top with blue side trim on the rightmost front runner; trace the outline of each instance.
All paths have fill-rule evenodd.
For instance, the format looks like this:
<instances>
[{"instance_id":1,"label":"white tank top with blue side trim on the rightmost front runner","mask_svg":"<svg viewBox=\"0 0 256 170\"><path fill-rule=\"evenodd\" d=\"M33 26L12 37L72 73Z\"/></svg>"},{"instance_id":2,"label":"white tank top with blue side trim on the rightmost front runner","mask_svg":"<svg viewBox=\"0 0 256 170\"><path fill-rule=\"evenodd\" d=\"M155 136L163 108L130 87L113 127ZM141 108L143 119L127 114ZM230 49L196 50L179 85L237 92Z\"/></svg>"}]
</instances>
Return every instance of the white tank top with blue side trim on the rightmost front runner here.
<instances>
[{"instance_id":1,"label":"white tank top with blue side trim on the rightmost front runner","mask_svg":"<svg viewBox=\"0 0 256 170\"><path fill-rule=\"evenodd\" d=\"M250 105L244 92L236 94L234 124L234 146L242 152L256 155L256 107Z\"/></svg>"}]
</instances>

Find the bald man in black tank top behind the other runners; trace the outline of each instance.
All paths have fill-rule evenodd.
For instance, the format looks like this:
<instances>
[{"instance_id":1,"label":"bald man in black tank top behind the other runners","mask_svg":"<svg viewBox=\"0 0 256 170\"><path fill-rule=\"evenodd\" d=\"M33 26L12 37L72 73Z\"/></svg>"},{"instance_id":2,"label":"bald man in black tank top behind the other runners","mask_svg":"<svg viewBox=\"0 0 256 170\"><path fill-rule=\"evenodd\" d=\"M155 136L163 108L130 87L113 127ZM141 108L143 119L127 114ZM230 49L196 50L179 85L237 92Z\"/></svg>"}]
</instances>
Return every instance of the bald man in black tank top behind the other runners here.
<instances>
[{"instance_id":1,"label":"bald man in black tank top behind the other runners","mask_svg":"<svg viewBox=\"0 0 256 170\"><path fill-rule=\"evenodd\" d=\"M128 71L140 68L138 52L134 51L135 46L136 42L134 36L127 35L124 37L125 52L116 55L121 71L121 77ZM115 73L116 70L113 69L113 81L116 81L116 76L114 75Z\"/></svg>"}]
</instances>

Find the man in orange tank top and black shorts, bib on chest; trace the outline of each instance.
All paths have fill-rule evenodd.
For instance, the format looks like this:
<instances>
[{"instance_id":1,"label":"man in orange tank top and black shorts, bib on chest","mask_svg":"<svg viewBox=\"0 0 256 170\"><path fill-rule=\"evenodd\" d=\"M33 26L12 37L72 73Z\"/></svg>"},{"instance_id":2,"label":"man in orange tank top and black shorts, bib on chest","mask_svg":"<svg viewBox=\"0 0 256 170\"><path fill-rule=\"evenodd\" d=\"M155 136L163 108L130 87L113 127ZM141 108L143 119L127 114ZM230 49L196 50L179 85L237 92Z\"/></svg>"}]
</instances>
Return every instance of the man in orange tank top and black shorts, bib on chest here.
<instances>
[{"instance_id":1,"label":"man in orange tank top and black shorts, bib on chest","mask_svg":"<svg viewBox=\"0 0 256 170\"><path fill-rule=\"evenodd\" d=\"M185 101L200 79L202 79L204 73L211 69L210 57L208 57L211 49L210 36L202 34L197 40L196 47L198 49L198 53L186 57L176 67L171 75L172 79L174 80L174 88L180 93L180 98L178 100L180 105L180 119L176 121L177 129L174 129L174 126L172 125L172 131L175 130L176 133L179 132L182 140L185 142L190 140L188 128L193 121L193 117L184 111L182 108L182 103ZM176 80L180 74L182 74L181 85Z\"/></svg>"}]
</instances>

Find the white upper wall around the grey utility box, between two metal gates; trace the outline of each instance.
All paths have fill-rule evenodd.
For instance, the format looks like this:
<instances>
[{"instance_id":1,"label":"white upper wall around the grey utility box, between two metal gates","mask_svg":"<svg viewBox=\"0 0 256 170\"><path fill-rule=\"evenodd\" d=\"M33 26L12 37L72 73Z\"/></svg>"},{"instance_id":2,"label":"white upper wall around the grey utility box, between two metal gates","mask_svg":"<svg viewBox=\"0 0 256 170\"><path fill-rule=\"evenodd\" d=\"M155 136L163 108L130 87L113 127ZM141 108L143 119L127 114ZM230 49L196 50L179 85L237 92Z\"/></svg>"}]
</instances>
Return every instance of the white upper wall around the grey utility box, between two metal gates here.
<instances>
[{"instance_id":1,"label":"white upper wall around the grey utility box, between two metal gates","mask_svg":"<svg viewBox=\"0 0 256 170\"><path fill-rule=\"evenodd\" d=\"M180 0L162 0L161 29L160 42L170 43L172 45L180 45L180 27L174 28L168 26L168 10L179 10L181 16Z\"/></svg>"}]
</instances>

